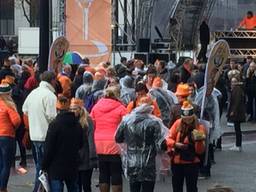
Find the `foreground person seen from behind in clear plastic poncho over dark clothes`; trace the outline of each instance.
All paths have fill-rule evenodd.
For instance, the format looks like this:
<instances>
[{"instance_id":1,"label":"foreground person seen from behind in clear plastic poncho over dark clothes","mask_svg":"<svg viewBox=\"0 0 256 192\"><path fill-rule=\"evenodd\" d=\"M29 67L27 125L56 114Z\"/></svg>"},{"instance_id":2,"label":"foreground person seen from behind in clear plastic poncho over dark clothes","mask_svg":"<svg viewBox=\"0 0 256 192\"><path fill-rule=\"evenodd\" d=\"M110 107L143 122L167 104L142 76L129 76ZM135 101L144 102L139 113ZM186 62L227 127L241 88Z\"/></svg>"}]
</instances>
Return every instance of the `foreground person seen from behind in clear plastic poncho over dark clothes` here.
<instances>
[{"instance_id":1,"label":"foreground person seen from behind in clear plastic poncho over dark clothes","mask_svg":"<svg viewBox=\"0 0 256 192\"><path fill-rule=\"evenodd\" d=\"M126 146L121 145L122 162L131 192L154 191L157 149L168 129L152 111L152 100L142 97L139 106L123 118L115 135L116 142Z\"/></svg>"}]
</instances>

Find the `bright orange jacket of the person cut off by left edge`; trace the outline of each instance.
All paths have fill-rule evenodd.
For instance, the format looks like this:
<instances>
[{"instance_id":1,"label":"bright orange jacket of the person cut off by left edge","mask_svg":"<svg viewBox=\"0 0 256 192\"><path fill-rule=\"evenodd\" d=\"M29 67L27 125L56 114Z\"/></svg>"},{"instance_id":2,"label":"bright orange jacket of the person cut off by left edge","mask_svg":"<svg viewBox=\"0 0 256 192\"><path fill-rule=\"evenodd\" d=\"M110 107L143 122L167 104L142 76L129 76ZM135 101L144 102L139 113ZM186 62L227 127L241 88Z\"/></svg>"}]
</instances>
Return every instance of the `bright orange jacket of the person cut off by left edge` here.
<instances>
[{"instance_id":1,"label":"bright orange jacket of the person cut off by left edge","mask_svg":"<svg viewBox=\"0 0 256 192\"><path fill-rule=\"evenodd\" d=\"M15 137L15 129L20 123L19 113L0 100L0 136Z\"/></svg>"}]
</instances>

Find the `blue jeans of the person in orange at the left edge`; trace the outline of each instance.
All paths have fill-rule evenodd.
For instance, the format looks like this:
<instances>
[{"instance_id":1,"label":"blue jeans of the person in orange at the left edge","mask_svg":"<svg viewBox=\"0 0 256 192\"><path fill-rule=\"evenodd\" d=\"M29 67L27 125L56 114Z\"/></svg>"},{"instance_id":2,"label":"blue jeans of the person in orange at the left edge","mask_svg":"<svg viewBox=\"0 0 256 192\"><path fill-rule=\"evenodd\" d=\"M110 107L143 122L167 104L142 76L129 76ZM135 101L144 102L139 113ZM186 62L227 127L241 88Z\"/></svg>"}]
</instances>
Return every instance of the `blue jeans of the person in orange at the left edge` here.
<instances>
[{"instance_id":1,"label":"blue jeans of the person in orange at the left edge","mask_svg":"<svg viewBox=\"0 0 256 192\"><path fill-rule=\"evenodd\" d=\"M14 156L15 139L12 137L0 137L0 190L7 188Z\"/></svg>"}]
</instances>

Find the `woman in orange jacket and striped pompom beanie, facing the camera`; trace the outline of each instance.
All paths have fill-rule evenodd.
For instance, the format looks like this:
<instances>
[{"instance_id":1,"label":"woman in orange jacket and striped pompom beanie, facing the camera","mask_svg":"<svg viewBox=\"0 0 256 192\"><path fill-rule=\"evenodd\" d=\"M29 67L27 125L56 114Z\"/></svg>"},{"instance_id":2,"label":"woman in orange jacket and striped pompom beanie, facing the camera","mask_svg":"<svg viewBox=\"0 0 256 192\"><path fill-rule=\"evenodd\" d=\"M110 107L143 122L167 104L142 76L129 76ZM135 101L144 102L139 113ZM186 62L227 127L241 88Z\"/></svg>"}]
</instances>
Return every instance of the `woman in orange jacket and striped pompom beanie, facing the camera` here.
<instances>
[{"instance_id":1,"label":"woman in orange jacket and striped pompom beanie, facing the camera","mask_svg":"<svg viewBox=\"0 0 256 192\"><path fill-rule=\"evenodd\" d=\"M183 192L186 180L188 192L197 192L200 160L197 155L205 150L205 127L198 122L193 106L183 102L181 118L175 121L166 139L172 152L172 185L174 192Z\"/></svg>"}]
</instances>

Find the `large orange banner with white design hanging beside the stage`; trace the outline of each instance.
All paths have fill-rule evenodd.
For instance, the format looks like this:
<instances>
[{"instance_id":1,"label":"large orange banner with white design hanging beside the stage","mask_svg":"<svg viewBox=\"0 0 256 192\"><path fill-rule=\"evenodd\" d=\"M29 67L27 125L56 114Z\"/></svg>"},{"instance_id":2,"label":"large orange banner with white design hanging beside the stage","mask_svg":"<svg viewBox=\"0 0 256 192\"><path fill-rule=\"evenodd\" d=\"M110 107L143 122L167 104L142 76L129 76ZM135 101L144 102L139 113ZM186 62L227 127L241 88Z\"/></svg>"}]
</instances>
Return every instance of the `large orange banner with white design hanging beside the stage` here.
<instances>
[{"instance_id":1,"label":"large orange banner with white design hanging beside the stage","mask_svg":"<svg viewBox=\"0 0 256 192\"><path fill-rule=\"evenodd\" d=\"M111 0L67 0L66 37L92 64L110 61Z\"/></svg>"}]
</instances>

